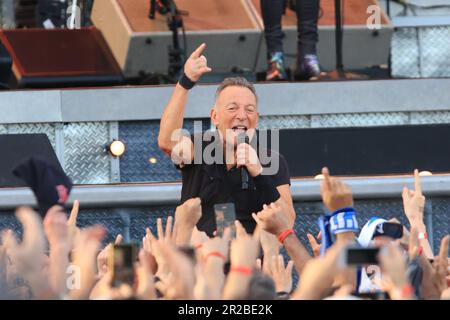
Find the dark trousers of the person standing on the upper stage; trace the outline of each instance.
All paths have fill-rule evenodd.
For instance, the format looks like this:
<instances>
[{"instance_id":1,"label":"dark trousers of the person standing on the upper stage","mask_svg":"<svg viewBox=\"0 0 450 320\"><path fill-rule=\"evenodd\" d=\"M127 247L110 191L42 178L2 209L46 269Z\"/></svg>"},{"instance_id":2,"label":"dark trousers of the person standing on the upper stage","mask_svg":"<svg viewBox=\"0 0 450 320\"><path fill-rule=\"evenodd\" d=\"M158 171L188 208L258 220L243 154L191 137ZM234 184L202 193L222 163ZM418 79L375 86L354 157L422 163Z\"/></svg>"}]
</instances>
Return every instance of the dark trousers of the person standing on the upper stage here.
<instances>
[{"instance_id":1,"label":"dark trousers of the person standing on the upper stage","mask_svg":"<svg viewBox=\"0 0 450 320\"><path fill-rule=\"evenodd\" d=\"M283 31L281 16L287 0L261 0L261 11L264 21L268 55L283 52ZM297 31L298 56L316 54L316 44L319 40L317 22L319 19L320 0L297 0Z\"/></svg>"}]
</instances>

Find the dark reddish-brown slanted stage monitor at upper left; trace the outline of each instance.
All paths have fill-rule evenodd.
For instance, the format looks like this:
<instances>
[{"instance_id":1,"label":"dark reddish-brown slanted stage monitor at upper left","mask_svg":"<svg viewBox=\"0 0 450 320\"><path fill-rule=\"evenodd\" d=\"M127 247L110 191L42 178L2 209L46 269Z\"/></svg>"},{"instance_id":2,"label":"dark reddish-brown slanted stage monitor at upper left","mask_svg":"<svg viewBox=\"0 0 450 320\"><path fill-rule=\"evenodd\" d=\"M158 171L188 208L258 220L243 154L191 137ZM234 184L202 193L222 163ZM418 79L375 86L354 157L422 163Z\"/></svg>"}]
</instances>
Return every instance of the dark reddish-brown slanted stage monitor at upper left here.
<instances>
[{"instance_id":1,"label":"dark reddish-brown slanted stage monitor at upper left","mask_svg":"<svg viewBox=\"0 0 450 320\"><path fill-rule=\"evenodd\" d=\"M101 32L81 29L1 30L20 87L114 85L122 74Z\"/></svg>"}]
</instances>

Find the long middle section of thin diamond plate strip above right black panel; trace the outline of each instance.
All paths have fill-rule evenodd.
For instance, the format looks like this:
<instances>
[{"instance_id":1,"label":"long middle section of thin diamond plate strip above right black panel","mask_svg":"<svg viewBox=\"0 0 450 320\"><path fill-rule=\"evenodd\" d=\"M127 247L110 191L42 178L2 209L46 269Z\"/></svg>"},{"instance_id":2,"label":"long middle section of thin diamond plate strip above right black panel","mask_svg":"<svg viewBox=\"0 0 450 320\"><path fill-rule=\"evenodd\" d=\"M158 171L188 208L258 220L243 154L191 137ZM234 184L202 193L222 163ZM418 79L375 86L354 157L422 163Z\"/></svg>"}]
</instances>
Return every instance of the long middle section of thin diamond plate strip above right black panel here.
<instances>
[{"instance_id":1,"label":"long middle section of thin diamond plate strip above right black panel","mask_svg":"<svg viewBox=\"0 0 450 320\"><path fill-rule=\"evenodd\" d=\"M313 128L326 127L366 127L402 125L409 123L407 112L372 112L350 114L324 114L312 115L311 126Z\"/></svg>"}]
</instances>

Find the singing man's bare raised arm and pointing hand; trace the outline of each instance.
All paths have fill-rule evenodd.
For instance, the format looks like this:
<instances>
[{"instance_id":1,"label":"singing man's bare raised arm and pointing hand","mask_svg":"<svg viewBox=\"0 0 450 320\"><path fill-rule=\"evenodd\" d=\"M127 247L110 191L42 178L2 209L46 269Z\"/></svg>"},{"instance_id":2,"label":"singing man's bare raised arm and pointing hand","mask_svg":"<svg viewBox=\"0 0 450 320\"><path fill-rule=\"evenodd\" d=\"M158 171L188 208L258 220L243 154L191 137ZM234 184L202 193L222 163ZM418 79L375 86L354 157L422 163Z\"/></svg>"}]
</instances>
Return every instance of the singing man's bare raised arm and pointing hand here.
<instances>
[{"instance_id":1,"label":"singing man's bare raised arm and pointing hand","mask_svg":"<svg viewBox=\"0 0 450 320\"><path fill-rule=\"evenodd\" d=\"M192 82L197 82L204 73L211 71L211 68L208 67L206 57L202 55L205 48L206 44L201 44L191 54L184 65L184 74ZM184 109L187 98L188 90L180 85L180 83L177 83L169 103L161 116L158 146L168 155L171 155L172 149L179 142L179 138L181 138L173 139L172 134L175 130L183 128Z\"/></svg>"}]
</instances>

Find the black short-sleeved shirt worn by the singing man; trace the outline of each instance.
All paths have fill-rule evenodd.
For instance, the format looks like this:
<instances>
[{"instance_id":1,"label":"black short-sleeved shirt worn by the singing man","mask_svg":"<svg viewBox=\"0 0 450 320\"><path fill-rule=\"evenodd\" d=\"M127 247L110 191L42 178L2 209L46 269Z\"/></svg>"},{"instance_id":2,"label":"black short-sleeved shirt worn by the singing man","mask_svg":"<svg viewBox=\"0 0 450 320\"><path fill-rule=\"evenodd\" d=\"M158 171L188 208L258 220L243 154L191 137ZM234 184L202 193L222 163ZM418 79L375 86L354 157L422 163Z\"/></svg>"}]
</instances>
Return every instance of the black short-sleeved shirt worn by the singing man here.
<instances>
[{"instance_id":1,"label":"black short-sleeved shirt worn by the singing man","mask_svg":"<svg viewBox=\"0 0 450 320\"><path fill-rule=\"evenodd\" d=\"M212 142L203 142L202 150L209 143L217 143L219 139ZM195 140L193 140L195 141ZM219 142L220 143L220 142ZM222 148L221 145L219 147ZM257 146L257 149L259 146ZM258 151L258 150L257 150ZM284 157L275 151L270 151L271 157L279 157L278 171L264 179L271 179L273 186L290 185L289 169ZM262 210L265 191L258 188L254 179L249 175L249 188L242 190L241 170L233 167L227 170L223 164L189 164L179 168L182 173L181 203L188 199L200 197L202 202L202 217L197 224L200 231L205 231L212 236L216 230L214 205L219 203L233 202L236 208L236 219L239 220L247 232L253 232L256 222L252 213ZM267 165L269 166L269 165ZM259 185L259 184L258 184ZM267 203L266 203L267 204Z\"/></svg>"}]
</instances>

